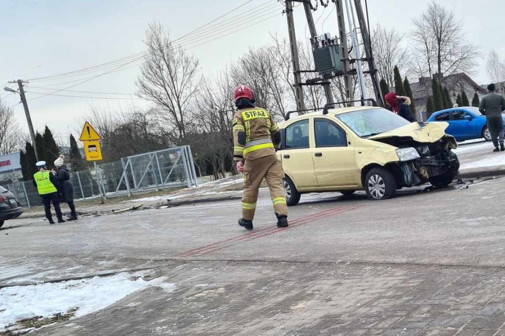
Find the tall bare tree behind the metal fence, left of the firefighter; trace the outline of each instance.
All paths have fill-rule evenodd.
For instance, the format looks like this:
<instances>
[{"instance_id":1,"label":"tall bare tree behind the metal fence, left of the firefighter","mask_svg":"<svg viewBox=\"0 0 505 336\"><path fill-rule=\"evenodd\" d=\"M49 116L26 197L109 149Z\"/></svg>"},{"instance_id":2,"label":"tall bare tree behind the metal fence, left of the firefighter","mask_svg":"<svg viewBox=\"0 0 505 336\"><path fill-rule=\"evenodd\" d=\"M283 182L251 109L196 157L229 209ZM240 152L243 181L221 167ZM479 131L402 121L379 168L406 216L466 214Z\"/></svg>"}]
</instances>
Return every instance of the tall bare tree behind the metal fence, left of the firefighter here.
<instances>
[{"instance_id":1,"label":"tall bare tree behind the metal fence, left of the firefighter","mask_svg":"<svg viewBox=\"0 0 505 336\"><path fill-rule=\"evenodd\" d=\"M148 52L136 82L137 94L155 104L161 121L172 127L180 142L186 135L199 82L198 60L174 46L160 23L149 24L144 42Z\"/></svg>"}]
</instances>

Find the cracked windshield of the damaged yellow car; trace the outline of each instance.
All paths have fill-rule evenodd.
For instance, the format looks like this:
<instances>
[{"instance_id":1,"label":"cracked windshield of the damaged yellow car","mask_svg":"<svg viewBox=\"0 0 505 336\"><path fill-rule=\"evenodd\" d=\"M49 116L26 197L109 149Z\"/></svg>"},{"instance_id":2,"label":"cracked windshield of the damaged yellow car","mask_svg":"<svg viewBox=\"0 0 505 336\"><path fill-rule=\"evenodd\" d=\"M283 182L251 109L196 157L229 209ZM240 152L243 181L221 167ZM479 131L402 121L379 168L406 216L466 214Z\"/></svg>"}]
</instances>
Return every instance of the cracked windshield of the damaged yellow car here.
<instances>
[{"instance_id":1,"label":"cracked windshield of the damaged yellow car","mask_svg":"<svg viewBox=\"0 0 505 336\"><path fill-rule=\"evenodd\" d=\"M362 138L389 132L410 122L385 108L362 109L336 116Z\"/></svg>"}]
</instances>

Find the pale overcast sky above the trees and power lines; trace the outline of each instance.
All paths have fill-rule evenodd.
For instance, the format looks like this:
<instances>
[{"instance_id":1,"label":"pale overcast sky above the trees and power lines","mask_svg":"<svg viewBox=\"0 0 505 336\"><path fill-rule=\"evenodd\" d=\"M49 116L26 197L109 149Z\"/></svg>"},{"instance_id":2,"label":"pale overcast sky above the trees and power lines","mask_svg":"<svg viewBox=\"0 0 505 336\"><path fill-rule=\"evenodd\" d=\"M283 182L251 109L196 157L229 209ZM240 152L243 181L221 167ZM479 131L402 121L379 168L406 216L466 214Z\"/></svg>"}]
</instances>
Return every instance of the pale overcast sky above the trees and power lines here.
<instances>
[{"instance_id":1,"label":"pale overcast sky above the trees and power lines","mask_svg":"<svg viewBox=\"0 0 505 336\"><path fill-rule=\"evenodd\" d=\"M198 28L209 21L225 14L245 3L246 0L3 0L0 11L0 85L13 79L33 79L80 70L98 64L132 55L144 50L142 39L148 23L159 21L170 29L174 38ZM480 52L487 54L494 48L500 55L505 55L503 13L505 4L499 0L475 2L470 0L439 0L440 4L455 12L463 20L467 37L479 46ZM221 39L189 49L201 62L203 74L212 74L223 69L238 58L249 46L268 42L270 33L287 37L286 18L281 14L281 6L275 8L275 0L252 0L249 4L230 14L230 16L260 7L264 12L258 17L241 21L240 27L277 16ZM314 0L315 3L315 0ZM363 1L364 3L364 1ZM408 33L412 29L411 19L418 17L427 8L429 0L369 0L370 21L372 25L394 28ZM331 5L333 6L333 5ZM328 16L330 14L330 16ZM295 9L297 38L306 36L304 12ZM318 20L318 18L320 18ZM337 34L333 7L323 13L320 9L314 13L319 31ZM326 19L327 18L327 19ZM326 19L326 21L325 21ZM324 26L322 23L324 21ZM216 38L212 36L208 39ZM207 39L207 40L208 40ZM206 39L202 38L201 42ZM477 51L477 50L476 50ZM486 83L485 59L479 61L479 74L474 76L478 83ZM32 81L27 86L27 98L33 99L40 94L52 92L34 88L45 86L65 88L78 82L56 85L71 80L79 80L97 75L91 73L80 77L63 78L53 81ZM96 91L108 93L134 93L138 68L107 74L70 88L78 91ZM412 79L411 82L417 80ZM3 87L4 85L2 85ZM88 95L103 97L135 98L128 95L99 95L61 91L59 94ZM1 98L15 105L15 112L20 124L26 129L24 111L19 96L0 92ZM78 97L44 96L29 101L32 121L35 129L41 130L47 124L54 133L66 134L82 127L77 123L80 116L89 110L89 104L126 108L127 104L146 106L141 100L90 99ZM17 104L17 105L16 105Z\"/></svg>"}]
</instances>

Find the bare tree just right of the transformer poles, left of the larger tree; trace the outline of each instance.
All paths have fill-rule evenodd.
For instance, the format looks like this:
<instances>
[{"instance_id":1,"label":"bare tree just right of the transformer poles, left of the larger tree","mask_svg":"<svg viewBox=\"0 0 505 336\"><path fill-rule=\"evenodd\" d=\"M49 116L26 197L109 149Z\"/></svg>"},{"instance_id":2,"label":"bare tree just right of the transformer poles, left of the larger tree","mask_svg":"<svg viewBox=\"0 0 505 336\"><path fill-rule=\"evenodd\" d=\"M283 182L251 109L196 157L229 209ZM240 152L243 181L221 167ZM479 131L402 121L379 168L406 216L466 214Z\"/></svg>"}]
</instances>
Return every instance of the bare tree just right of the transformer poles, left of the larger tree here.
<instances>
[{"instance_id":1,"label":"bare tree just right of the transformer poles, left of the larger tree","mask_svg":"<svg viewBox=\"0 0 505 336\"><path fill-rule=\"evenodd\" d=\"M403 72L409 66L409 49L403 45L405 36L394 29L377 24L372 33L372 49L379 77L389 87L394 86L394 67Z\"/></svg>"}]
</instances>

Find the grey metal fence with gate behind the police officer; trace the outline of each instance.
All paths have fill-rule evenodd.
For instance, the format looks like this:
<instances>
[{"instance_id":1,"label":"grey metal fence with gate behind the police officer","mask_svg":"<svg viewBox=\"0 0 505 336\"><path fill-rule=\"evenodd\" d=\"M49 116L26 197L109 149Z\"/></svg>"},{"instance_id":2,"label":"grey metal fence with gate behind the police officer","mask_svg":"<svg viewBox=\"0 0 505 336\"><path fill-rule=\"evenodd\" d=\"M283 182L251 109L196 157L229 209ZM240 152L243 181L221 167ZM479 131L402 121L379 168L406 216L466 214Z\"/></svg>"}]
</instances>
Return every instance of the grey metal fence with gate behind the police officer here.
<instances>
[{"instance_id":1,"label":"grey metal fence with gate behind the police officer","mask_svg":"<svg viewBox=\"0 0 505 336\"><path fill-rule=\"evenodd\" d=\"M97 164L96 169L71 172L75 199L131 196L134 192L198 187L189 146L174 147ZM3 185L24 207L42 205L32 181Z\"/></svg>"}]
</instances>

